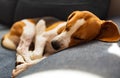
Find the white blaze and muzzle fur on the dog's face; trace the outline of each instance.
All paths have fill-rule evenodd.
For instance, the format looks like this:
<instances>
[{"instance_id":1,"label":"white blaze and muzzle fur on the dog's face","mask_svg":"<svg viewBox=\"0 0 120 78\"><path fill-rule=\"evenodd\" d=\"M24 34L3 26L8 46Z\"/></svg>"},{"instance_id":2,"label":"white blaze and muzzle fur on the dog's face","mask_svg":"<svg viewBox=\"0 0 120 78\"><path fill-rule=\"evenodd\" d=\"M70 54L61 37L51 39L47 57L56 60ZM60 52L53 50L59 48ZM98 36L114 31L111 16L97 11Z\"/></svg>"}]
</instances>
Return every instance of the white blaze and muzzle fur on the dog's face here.
<instances>
[{"instance_id":1,"label":"white blaze and muzzle fur on the dog's face","mask_svg":"<svg viewBox=\"0 0 120 78\"><path fill-rule=\"evenodd\" d=\"M62 32L60 35L56 36L53 41L58 41L61 45L61 49L67 48L69 46L72 34L75 33L84 23L84 19L77 20L69 31Z\"/></svg>"}]
</instances>

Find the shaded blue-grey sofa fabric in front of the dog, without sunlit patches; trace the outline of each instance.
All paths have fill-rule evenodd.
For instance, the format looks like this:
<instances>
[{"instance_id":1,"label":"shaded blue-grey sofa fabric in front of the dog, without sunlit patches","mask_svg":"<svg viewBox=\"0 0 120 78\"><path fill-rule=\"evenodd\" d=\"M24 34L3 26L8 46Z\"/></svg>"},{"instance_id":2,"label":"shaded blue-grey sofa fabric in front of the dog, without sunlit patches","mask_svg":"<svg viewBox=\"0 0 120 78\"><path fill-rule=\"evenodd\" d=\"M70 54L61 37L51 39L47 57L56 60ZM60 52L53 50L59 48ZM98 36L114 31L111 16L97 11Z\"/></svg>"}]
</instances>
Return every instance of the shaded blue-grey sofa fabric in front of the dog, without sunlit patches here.
<instances>
[{"instance_id":1,"label":"shaded blue-grey sofa fabric in front of the dog, without sunlit patches","mask_svg":"<svg viewBox=\"0 0 120 78\"><path fill-rule=\"evenodd\" d=\"M17 78L60 69L87 72L100 78L120 78L120 56L108 53L111 44L93 41L61 51L34 65Z\"/></svg>"}]
</instances>

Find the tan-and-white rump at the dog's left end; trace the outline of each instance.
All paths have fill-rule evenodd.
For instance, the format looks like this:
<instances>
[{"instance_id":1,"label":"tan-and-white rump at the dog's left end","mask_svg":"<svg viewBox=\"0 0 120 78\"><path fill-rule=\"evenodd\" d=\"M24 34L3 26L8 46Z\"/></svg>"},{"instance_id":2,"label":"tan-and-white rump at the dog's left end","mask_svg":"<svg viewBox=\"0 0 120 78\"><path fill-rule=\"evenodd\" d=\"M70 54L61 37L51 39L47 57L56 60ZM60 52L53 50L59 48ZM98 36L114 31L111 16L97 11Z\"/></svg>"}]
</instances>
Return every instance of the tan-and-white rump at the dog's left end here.
<instances>
[{"instance_id":1,"label":"tan-and-white rump at the dog's left end","mask_svg":"<svg viewBox=\"0 0 120 78\"><path fill-rule=\"evenodd\" d=\"M10 31L3 37L2 45L8 49L15 50L19 43L24 26L25 23L22 21L13 24Z\"/></svg>"}]
</instances>

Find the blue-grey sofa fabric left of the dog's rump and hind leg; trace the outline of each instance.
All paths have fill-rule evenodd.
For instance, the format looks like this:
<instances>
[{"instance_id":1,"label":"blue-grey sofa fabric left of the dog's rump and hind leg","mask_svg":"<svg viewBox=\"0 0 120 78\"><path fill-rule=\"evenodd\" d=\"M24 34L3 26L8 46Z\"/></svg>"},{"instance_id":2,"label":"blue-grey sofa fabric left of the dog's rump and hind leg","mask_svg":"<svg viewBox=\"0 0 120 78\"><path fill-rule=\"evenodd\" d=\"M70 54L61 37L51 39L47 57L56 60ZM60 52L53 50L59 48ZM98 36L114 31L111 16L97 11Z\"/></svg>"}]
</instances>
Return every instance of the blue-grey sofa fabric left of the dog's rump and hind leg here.
<instances>
[{"instance_id":1,"label":"blue-grey sofa fabric left of the dog's rump and hind leg","mask_svg":"<svg viewBox=\"0 0 120 78\"><path fill-rule=\"evenodd\" d=\"M7 28L0 25L0 41L6 32L8 32ZM15 66L15 58L14 51L5 49L0 45L0 78L11 78L11 72Z\"/></svg>"}]
</instances>

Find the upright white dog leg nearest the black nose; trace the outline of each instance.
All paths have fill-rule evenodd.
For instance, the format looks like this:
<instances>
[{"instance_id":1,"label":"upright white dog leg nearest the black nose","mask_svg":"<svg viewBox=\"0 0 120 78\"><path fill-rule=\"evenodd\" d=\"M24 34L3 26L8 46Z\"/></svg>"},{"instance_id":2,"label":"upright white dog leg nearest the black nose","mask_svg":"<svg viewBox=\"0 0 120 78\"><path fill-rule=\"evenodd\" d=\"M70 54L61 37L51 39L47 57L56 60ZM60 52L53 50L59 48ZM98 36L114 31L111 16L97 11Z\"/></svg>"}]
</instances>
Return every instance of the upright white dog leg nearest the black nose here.
<instances>
[{"instance_id":1,"label":"upright white dog leg nearest the black nose","mask_svg":"<svg viewBox=\"0 0 120 78\"><path fill-rule=\"evenodd\" d=\"M42 36L42 34L45 33L45 29L45 21L40 20L40 22L38 22L36 25L35 49L31 55L32 60L40 59L43 57L45 44L47 42L47 38Z\"/></svg>"}]
</instances>

